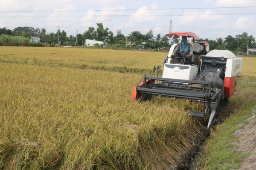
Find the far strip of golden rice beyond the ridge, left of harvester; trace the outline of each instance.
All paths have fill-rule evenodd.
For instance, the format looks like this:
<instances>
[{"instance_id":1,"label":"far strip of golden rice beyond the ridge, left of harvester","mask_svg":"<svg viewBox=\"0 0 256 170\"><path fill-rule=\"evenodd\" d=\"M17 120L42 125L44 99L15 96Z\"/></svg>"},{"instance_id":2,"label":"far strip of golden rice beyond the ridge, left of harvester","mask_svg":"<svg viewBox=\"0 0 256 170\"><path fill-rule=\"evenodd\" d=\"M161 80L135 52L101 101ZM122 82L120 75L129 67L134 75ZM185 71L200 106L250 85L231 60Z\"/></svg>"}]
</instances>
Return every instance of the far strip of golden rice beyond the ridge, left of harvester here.
<instances>
[{"instance_id":1,"label":"far strip of golden rice beyond the ridge, left of harvester","mask_svg":"<svg viewBox=\"0 0 256 170\"><path fill-rule=\"evenodd\" d=\"M0 47L0 62L144 73L163 66L166 52L90 48Z\"/></svg>"}]
</instances>

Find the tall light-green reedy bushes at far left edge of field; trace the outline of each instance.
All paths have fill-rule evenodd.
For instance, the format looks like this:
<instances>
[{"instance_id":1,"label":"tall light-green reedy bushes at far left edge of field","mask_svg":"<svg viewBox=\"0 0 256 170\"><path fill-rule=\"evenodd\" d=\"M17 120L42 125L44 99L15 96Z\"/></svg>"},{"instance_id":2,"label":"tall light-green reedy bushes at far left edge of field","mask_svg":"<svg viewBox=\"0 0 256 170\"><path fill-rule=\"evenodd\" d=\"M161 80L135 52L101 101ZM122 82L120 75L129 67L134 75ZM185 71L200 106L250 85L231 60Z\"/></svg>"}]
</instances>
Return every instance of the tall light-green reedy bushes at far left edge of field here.
<instances>
[{"instance_id":1,"label":"tall light-green reedy bushes at far left edge of field","mask_svg":"<svg viewBox=\"0 0 256 170\"><path fill-rule=\"evenodd\" d=\"M0 46L29 46L29 38L0 35Z\"/></svg>"}]
</instances>

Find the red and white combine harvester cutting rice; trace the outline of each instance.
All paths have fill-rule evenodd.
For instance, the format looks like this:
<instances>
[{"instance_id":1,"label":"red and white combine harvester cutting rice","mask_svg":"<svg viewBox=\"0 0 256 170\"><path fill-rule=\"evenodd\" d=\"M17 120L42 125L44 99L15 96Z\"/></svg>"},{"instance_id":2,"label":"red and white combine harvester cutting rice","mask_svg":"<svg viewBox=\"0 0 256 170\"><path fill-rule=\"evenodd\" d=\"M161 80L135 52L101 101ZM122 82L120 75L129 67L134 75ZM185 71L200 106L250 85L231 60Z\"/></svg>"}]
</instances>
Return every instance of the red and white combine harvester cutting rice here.
<instances>
[{"instance_id":1,"label":"red and white combine harvester cutting rice","mask_svg":"<svg viewBox=\"0 0 256 170\"><path fill-rule=\"evenodd\" d=\"M191 32L174 32L166 36L174 36L174 39L192 37L193 42L189 42L194 50L192 57L183 59L182 65L175 64L171 55L177 44L172 45L164 63L163 77L158 77L161 66L154 66L157 77L144 75L134 87L132 97L140 102L150 100L152 95L198 101L204 104L204 111L188 111L188 114L200 118L209 116L208 129L218 121L218 113L227 108L228 98L235 92L236 77L242 71L242 59L227 50L209 51L209 44Z\"/></svg>"}]
</instances>

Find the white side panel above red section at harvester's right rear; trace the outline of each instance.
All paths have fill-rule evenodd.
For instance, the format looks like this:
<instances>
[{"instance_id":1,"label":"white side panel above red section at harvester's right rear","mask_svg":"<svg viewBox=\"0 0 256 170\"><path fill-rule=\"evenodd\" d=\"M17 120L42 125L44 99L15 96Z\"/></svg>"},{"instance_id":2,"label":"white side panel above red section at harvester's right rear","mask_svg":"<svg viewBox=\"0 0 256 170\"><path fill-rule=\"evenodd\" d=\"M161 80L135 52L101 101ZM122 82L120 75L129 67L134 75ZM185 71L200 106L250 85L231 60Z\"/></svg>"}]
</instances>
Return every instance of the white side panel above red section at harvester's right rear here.
<instances>
[{"instance_id":1,"label":"white side panel above red section at harvester's right rear","mask_svg":"<svg viewBox=\"0 0 256 170\"><path fill-rule=\"evenodd\" d=\"M227 59L225 77L234 77L242 73L242 62L241 58L230 58Z\"/></svg>"}]
</instances>

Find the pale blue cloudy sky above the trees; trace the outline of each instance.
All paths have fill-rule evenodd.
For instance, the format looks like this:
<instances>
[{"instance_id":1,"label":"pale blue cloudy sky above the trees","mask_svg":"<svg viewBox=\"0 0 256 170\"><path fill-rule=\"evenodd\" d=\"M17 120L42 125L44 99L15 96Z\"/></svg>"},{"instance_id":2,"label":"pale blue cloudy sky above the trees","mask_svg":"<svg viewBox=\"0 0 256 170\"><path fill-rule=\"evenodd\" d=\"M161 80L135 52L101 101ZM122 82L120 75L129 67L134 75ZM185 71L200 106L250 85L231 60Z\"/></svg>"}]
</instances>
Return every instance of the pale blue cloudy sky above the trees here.
<instances>
[{"instance_id":1,"label":"pale blue cloudy sky above the trees","mask_svg":"<svg viewBox=\"0 0 256 170\"><path fill-rule=\"evenodd\" d=\"M59 26L75 36L76 30L82 34L103 23L114 36L116 29L125 36L152 29L156 37L169 33L170 20L172 32L194 32L202 39L242 32L256 37L255 0L0 0L0 28L39 27L49 33Z\"/></svg>"}]
</instances>

